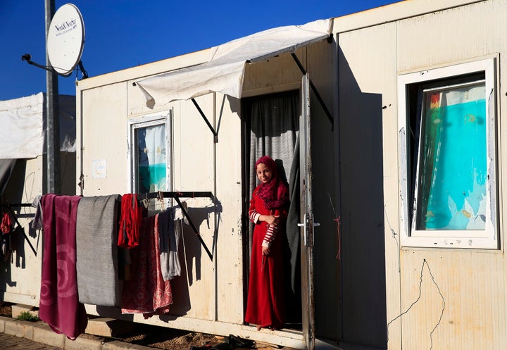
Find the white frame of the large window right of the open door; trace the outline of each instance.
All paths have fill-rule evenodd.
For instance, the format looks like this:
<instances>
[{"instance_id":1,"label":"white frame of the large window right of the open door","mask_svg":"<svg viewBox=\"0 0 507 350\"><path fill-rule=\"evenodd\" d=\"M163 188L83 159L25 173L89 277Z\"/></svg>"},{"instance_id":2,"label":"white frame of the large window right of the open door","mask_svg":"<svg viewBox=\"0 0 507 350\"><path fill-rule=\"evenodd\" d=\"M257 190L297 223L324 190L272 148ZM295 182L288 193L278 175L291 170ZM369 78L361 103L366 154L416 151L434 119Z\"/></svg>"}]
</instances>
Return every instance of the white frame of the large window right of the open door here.
<instances>
[{"instance_id":1,"label":"white frame of the large window right of the open door","mask_svg":"<svg viewBox=\"0 0 507 350\"><path fill-rule=\"evenodd\" d=\"M414 206L412 193L419 179L413 179L415 170L411 169L410 143L408 142L411 115L408 88L411 85L424 85L435 80L440 87L454 85L452 81L463 75L484 74L484 91L486 99L486 149L487 149L487 182L486 206L487 218L484 230L413 230ZM401 246L437 247L461 249L499 249L498 203L496 187L496 58L459 63L441 68L422 70L398 76L398 130L399 130L399 193L400 193L400 228ZM415 118L420 120L421 116ZM414 147L419 148L418 144ZM420 159L419 151L415 163ZM417 165L417 164L416 164ZM415 168L419 168L416 166ZM416 173L417 174L417 173ZM417 175L418 176L418 175Z\"/></svg>"}]
</instances>

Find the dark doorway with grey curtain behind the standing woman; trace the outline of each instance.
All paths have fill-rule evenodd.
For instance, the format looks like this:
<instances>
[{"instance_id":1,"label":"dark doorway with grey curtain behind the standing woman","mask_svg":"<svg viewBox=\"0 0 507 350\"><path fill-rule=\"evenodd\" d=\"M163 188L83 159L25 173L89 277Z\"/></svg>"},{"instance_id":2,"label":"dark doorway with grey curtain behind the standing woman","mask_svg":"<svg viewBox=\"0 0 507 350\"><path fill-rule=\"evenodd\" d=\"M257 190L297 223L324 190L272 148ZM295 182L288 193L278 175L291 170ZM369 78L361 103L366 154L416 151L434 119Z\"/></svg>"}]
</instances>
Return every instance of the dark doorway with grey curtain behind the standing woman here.
<instances>
[{"instance_id":1,"label":"dark doorway with grey curtain behind the standing woman","mask_svg":"<svg viewBox=\"0 0 507 350\"><path fill-rule=\"evenodd\" d=\"M253 224L248 211L253 189L258 185L254 165L270 156L289 185L290 206L284 239L284 300L286 328L301 330L301 251L299 201L299 90L242 99L243 168L243 256L244 305L246 307Z\"/></svg>"}]
</instances>

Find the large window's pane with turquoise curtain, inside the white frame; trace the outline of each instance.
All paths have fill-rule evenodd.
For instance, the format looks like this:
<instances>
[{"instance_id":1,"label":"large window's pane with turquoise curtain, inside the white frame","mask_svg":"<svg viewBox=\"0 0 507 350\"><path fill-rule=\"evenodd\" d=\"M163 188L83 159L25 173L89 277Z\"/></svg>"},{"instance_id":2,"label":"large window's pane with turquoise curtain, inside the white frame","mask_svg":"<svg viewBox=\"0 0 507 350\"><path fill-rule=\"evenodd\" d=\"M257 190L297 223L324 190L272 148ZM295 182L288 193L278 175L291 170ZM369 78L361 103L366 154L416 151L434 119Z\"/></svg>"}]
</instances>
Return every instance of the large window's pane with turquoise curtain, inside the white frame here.
<instances>
[{"instance_id":1,"label":"large window's pane with turquoise curtain, inside the white frame","mask_svg":"<svg viewBox=\"0 0 507 350\"><path fill-rule=\"evenodd\" d=\"M484 82L423 92L417 230L484 230Z\"/></svg>"}]
</instances>

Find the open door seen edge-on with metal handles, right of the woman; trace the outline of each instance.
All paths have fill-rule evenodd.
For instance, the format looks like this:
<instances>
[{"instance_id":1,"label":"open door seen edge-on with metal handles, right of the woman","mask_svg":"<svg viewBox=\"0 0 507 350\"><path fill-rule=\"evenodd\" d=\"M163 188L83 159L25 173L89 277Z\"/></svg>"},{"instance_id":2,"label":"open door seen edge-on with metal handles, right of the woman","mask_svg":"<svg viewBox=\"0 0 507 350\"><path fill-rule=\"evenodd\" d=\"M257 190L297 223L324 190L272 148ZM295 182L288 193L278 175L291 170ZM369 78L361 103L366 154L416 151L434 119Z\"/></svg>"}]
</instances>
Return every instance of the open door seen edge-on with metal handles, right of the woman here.
<instances>
[{"instance_id":1,"label":"open door seen edge-on with metal handles, right of the woman","mask_svg":"<svg viewBox=\"0 0 507 350\"><path fill-rule=\"evenodd\" d=\"M301 176L301 302L303 335L308 350L315 349L315 304L313 300L313 222L310 78L301 81L301 115L299 116L299 169Z\"/></svg>"}]
</instances>

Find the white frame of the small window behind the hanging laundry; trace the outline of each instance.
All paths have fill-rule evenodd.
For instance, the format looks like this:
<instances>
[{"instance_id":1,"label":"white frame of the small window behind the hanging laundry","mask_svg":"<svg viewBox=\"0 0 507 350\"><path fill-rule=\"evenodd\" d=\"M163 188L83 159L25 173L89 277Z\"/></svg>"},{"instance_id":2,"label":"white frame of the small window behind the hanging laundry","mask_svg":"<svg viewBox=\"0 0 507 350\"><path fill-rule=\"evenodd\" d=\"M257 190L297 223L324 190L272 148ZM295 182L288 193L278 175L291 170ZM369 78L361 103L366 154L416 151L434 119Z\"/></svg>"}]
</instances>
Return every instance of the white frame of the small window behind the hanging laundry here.
<instances>
[{"instance_id":1,"label":"white frame of the small window behind the hanging laundry","mask_svg":"<svg viewBox=\"0 0 507 350\"><path fill-rule=\"evenodd\" d=\"M170 109L165 113L156 113L149 115L142 115L138 118L131 118L128 120L128 163L129 169L128 174L130 176L129 187L131 193L137 193L139 189L137 189L137 144L135 138L135 132L137 129L142 127L150 127L155 125L164 125L165 127L165 171L166 171L166 182L165 186L167 191L171 190L171 186L173 183L173 175L172 175L172 161L173 161L173 142L172 142L172 130L173 130L173 110Z\"/></svg>"}]
</instances>

